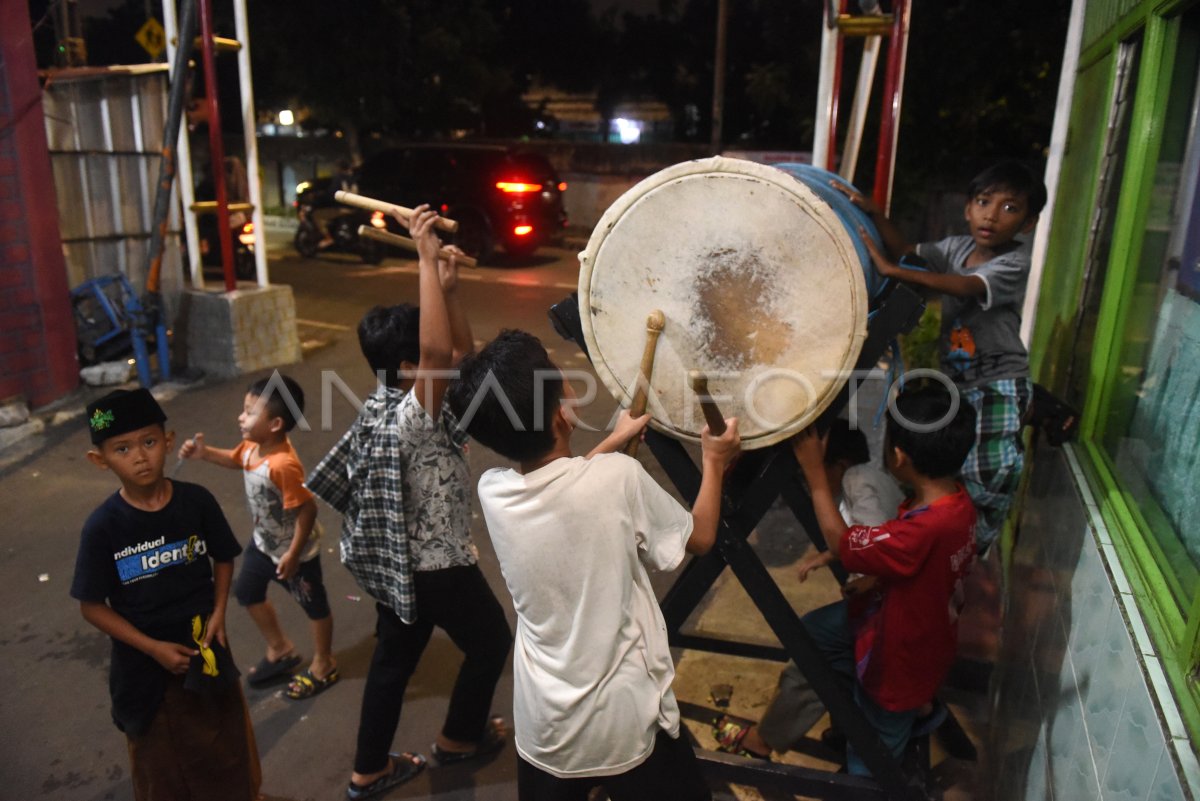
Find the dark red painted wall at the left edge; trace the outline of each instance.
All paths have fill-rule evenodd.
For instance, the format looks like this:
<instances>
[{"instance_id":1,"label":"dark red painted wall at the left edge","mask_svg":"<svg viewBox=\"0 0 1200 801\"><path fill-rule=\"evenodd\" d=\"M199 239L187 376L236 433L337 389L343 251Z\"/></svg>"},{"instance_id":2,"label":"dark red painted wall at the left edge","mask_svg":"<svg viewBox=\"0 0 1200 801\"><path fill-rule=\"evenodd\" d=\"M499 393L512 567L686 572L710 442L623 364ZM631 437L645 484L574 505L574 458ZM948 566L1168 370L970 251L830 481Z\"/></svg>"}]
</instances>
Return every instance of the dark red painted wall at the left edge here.
<instances>
[{"instance_id":1,"label":"dark red painted wall at the left edge","mask_svg":"<svg viewBox=\"0 0 1200 801\"><path fill-rule=\"evenodd\" d=\"M79 383L29 5L0 2L0 399Z\"/></svg>"}]
</instances>

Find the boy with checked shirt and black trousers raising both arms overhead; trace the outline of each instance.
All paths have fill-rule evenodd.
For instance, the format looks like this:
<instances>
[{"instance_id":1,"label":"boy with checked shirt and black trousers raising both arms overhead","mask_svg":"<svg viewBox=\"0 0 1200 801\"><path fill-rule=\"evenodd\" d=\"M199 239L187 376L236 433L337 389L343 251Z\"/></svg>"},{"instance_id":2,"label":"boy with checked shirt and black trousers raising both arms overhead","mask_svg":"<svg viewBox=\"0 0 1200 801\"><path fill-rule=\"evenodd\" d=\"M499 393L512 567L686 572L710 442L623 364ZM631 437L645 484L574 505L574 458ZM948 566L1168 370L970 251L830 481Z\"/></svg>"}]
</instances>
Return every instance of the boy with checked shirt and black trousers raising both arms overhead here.
<instances>
[{"instance_id":1,"label":"boy with checked shirt and black trousers raising both arms overhead","mask_svg":"<svg viewBox=\"0 0 1200 801\"><path fill-rule=\"evenodd\" d=\"M425 767L420 754L390 748L404 688L434 626L464 658L433 757L442 764L481 757L508 734L504 721L488 715L512 634L476 564L466 435L443 406L449 375L474 341L457 297L457 266L438 258L437 217L422 205L409 224L420 309L377 306L362 318L359 343L380 384L307 481L342 513L342 564L376 598L378 642L346 789L352 801Z\"/></svg>"}]
</instances>

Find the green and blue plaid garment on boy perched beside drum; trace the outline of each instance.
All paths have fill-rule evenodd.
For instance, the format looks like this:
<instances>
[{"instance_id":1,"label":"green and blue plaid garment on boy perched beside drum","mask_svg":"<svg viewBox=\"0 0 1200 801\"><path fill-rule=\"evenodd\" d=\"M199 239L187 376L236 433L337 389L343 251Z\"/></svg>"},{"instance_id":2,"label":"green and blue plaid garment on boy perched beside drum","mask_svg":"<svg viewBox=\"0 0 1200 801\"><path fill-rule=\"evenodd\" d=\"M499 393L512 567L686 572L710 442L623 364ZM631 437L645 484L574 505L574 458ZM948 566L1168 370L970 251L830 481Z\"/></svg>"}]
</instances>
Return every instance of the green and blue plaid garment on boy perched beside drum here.
<instances>
[{"instance_id":1,"label":"green and blue plaid garment on boy perched beside drum","mask_svg":"<svg viewBox=\"0 0 1200 801\"><path fill-rule=\"evenodd\" d=\"M976 411L976 442L962 463L962 483L979 513L976 544L985 553L1008 518L1013 494L1021 482L1025 444L1021 417L1030 405L1032 384L1009 378L961 390Z\"/></svg>"}]
</instances>

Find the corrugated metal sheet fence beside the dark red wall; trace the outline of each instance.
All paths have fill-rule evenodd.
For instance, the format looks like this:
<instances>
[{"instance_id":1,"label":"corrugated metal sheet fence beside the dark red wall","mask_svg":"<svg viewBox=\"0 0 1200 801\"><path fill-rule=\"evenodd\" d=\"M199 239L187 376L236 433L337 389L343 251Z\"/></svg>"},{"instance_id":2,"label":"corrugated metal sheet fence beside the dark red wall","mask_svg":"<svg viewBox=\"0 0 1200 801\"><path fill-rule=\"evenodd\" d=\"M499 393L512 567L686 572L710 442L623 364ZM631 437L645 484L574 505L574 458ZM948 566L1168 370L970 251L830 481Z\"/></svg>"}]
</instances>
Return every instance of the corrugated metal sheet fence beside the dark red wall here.
<instances>
[{"instance_id":1,"label":"corrugated metal sheet fence beside the dark red wall","mask_svg":"<svg viewBox=\"0 0 1200 801\"><path fill-rule=\"evenodd\" d=\"M167 115L166 65L50 73L43 102L70 284L121 272L140 289ZM184 265L174 197L167 228L162 290L178 294Z\"/></svg>"}]
</instances>

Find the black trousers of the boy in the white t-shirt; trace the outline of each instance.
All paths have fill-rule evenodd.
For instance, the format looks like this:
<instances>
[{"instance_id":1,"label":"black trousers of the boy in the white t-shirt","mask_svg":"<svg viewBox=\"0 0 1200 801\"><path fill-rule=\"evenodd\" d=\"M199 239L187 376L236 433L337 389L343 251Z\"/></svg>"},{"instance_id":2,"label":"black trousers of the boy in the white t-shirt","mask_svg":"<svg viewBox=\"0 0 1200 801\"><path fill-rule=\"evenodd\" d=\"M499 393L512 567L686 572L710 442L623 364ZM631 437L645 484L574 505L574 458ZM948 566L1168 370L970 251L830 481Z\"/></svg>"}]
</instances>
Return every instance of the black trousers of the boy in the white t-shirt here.
<instances>
[{"instance_id":1,"label":"black trousers of the boy in the white t-shirt","mask_svg":"<svg viewBox=\"0 0 1200 801\"><path fill-rule=\"evenodd\" d=\"M601 785L611 801L710 801L696 752L682 728L678 737L659 730L654 752L644 763L617 776L558 778L517 757L520 801L587 801Z\"/></svg>"}]
</instances>

